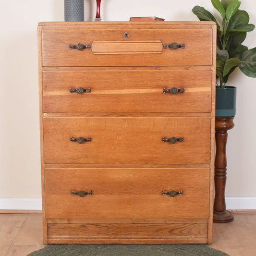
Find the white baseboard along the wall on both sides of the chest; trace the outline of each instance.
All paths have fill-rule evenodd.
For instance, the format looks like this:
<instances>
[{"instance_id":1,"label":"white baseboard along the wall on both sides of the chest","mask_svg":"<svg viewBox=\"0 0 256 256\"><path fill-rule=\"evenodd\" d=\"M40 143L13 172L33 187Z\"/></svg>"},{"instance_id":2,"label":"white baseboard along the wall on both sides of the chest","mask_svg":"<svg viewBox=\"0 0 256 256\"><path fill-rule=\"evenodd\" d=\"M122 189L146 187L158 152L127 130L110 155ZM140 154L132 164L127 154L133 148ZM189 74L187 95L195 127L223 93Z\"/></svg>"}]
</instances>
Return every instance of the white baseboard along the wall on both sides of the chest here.
<instances>
[{"instance_id":1,"label":"white baseboard along the wall on both sides of the chest","mask_svg":"<svg viewBox=\"0 0 256 256\"><path fill-rule=\"evenodd\" d=\"M256 209L256 196L227 196L229 210ZM2 210L42 210L41 198L0 198Z\"/></svg>"}]
</instances>

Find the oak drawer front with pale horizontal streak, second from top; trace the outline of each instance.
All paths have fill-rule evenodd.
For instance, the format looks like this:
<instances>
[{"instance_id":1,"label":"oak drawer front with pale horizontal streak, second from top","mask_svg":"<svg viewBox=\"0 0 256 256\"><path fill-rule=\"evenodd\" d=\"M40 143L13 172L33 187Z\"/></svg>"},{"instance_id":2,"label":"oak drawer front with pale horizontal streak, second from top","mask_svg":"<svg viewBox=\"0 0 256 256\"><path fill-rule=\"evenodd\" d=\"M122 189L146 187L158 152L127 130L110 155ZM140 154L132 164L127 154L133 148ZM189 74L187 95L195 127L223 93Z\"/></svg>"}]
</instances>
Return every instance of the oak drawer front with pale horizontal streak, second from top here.
<instances>
[{"instance_id":1,"label":"oak drawer front with pale horizontal streak, second from top","mask_svg":"<svg viewBox=\"0 0 256 256\"><path fill-rule=\"evenodd\" d=\"M207 70L45 71L43 112L210 112L211 82Z\"/></svg>"}]
</instances>

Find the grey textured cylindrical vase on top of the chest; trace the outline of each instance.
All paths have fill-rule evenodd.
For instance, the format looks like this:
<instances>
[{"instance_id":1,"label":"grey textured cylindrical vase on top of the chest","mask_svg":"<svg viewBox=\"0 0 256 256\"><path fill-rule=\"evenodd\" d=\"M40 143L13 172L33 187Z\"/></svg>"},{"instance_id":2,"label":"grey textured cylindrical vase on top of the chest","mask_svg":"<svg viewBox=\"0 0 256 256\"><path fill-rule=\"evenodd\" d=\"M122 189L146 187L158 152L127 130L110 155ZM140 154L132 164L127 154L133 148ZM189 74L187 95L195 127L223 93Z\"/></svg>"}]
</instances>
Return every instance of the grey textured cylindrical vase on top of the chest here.
<instances>
[{"instance_id":1,"label":"grey textured cylindrical vase on top of the chest","mask_svg":"<svg viewBox=\"0 0 256 256\"><path fill-rule=\"evenodd\" d=\"M64 0L64 20L84 21L84 0Z\"/></svg>"}]
</instances>

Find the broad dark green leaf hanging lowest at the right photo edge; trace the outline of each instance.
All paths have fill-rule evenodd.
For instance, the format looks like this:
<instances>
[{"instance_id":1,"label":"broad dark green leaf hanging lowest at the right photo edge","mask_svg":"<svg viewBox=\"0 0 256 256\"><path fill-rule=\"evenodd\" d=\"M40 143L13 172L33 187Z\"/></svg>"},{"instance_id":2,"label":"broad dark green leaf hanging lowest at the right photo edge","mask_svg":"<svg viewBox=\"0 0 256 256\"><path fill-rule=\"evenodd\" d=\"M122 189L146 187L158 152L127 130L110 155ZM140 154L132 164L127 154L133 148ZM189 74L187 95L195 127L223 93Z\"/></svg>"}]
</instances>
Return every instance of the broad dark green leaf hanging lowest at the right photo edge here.
<instances>
[{"instance_id":1,"label":"broad dark green leaf hanging lowest at the right photo edge","mask_svg":"<svg viewBox=\"0 0 256 256\"><path fill-rule=\"evenodd\" d=\"M245 75L256 77L256 47L241 54L239 68Z\"/></svg>"}]
</instances>

